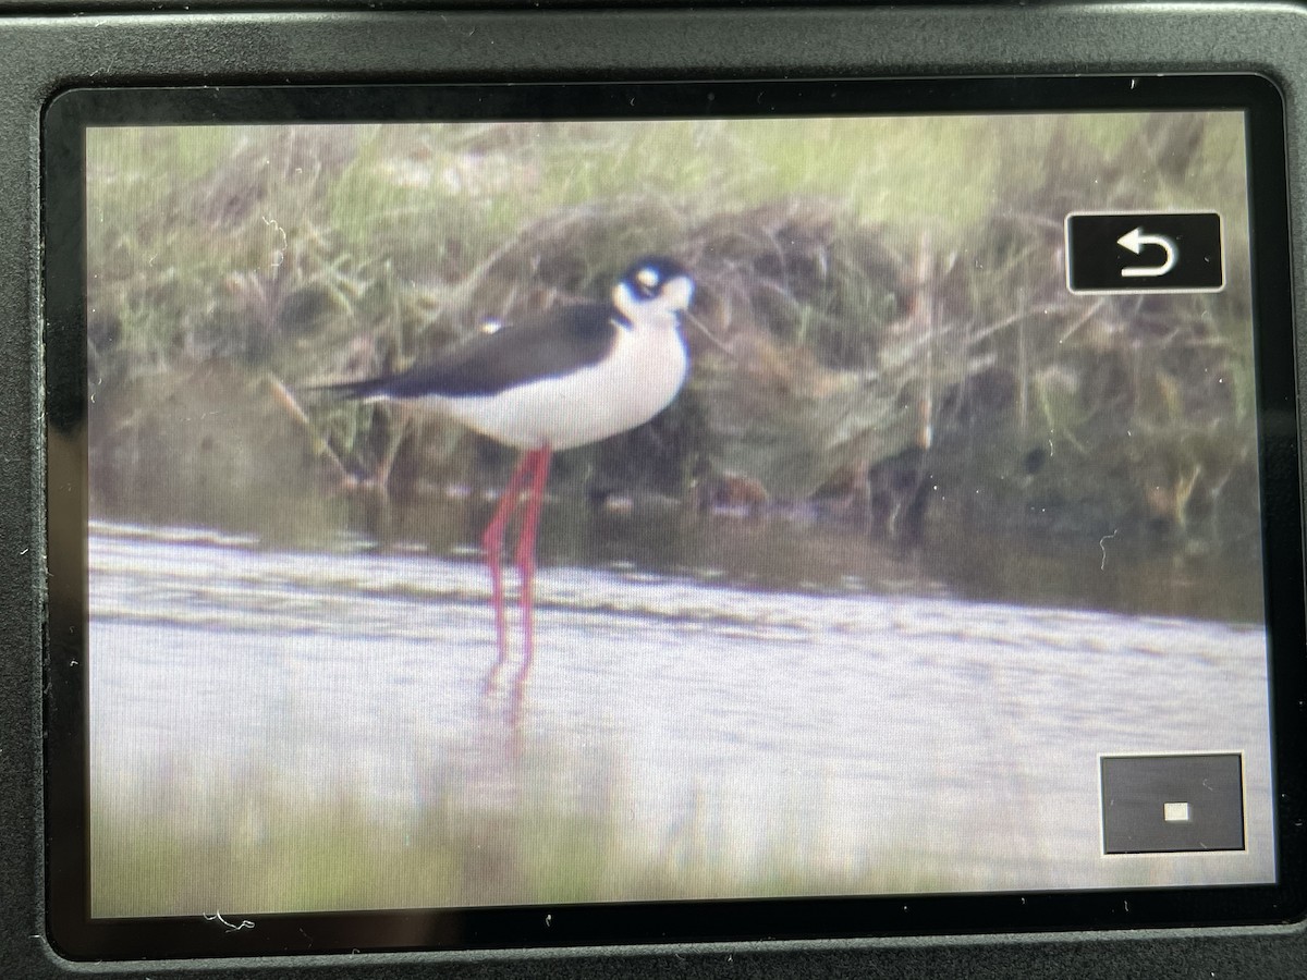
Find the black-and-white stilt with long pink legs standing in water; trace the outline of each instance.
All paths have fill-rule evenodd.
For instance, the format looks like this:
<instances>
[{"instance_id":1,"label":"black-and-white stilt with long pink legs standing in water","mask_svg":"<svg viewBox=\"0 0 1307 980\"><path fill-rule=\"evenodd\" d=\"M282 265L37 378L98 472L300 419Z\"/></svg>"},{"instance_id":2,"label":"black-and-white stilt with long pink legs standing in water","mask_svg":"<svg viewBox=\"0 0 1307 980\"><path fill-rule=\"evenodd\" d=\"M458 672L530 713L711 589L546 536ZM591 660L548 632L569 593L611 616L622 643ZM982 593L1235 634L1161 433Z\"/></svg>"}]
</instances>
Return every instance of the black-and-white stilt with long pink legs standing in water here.
<instances>
[{"instance_id":1,"label":"black-and-white stilt with long pink legs standing in water","mask_svg":"<svg viewBox=\"0 0 1307 980\"><path fill-rule=\"evenodd\" d=\"M469 342L400 374L327 385L350 399L433 408L523 451L481 537L490 566L498 660L508 656L503 609L505 527L527 489L515 562L521 575L523 668L532 657L531 585L536 529L555 449L599 442L642 425L672 404L690 359L681 315L694 282L665 257L631 265L609 301L576 303L516 324L488 324Z\"/></svg>"}]
</instances>

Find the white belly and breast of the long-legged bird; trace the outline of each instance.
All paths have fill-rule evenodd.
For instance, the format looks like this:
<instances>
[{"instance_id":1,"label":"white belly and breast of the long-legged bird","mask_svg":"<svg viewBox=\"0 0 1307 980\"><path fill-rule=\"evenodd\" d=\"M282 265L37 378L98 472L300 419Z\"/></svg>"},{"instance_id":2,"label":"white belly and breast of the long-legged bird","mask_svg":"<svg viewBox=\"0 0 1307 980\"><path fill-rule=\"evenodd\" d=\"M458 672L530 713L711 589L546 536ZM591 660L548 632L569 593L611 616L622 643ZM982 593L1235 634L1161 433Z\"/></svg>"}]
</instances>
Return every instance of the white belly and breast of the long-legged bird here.
<instances>
[{"instance_id":1,"label":"white belly and breast of the long-legged bird","mask_svg":"<svg viewBox=\"0 0 1307 980\"><path fill-rule=\"evenodd\" d=\"M622 331L608 358L561 378L421 404L508 446L570 449L648 422L672 404L687 371L685 345L668 324Z\"/></svg>"}]
</instances>

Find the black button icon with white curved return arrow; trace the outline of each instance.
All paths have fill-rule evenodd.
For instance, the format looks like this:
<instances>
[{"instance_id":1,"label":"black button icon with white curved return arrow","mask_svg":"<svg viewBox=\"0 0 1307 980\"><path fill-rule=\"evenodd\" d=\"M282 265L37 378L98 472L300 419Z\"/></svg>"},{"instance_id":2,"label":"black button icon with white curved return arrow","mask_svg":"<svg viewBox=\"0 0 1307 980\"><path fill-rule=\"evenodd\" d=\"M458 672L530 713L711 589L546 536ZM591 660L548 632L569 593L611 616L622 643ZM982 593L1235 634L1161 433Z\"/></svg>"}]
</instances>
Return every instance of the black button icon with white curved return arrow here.
<instances>
[{"instance_id":1,"label":"black button icon with white curved return arrow","mask_svg":"<svg viewBox=\"0 0 1307 980\"><path fill-rule=\"evenodd\" d=\"M1072 293L1221 290L1221 216L1068 214L1067 287Z\"/></svg>"}]
</instances>

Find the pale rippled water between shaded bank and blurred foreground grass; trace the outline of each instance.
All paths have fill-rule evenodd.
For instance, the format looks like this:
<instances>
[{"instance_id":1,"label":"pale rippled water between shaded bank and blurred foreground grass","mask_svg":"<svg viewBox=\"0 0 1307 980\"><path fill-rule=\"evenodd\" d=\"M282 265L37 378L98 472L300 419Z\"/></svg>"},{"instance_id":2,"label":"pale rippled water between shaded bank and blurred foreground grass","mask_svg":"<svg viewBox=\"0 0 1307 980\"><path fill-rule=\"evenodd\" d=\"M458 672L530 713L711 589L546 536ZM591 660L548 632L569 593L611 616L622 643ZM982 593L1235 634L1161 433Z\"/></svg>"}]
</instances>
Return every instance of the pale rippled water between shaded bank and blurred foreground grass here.
<instances>
[{"instance_id":1,"label":"pale rippled water between shaded bank and blurred foreground grass","mask_svg":"<svg viewBox=\"0 0 1307 980\"><path fill-rule=\"evenodd\" d=\"M546 567L514 719L511 672L484 694L495 639L472 557L91 531L107 811L203 822L209 791L274 772L403 828L439 796L511 806L506 759L525 753L651 856L690 838L723 866L925 855L968 889L1273 874L1259 627ZM1248 849L1104 858L1098 755L1182 751L1244 753Z\"/></svg>"}]
</instances>

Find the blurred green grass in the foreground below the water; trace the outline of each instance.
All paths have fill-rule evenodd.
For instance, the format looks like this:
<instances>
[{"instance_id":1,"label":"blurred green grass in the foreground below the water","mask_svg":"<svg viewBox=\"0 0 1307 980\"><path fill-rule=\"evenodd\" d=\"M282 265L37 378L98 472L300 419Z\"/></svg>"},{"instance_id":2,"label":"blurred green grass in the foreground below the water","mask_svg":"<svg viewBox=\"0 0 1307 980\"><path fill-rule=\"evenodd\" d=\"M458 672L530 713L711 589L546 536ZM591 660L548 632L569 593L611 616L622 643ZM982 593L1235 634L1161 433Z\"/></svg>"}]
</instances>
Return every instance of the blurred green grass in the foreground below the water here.
<instances>
[{"instance_id":1,"label":"blurred green grass in the foreground below the water","mask_svg":"<svg viewBox=\"0 0 1307 980\"><path fill-rule=\"evenodd\" d=\"M165 777L149 798L91 805L95 916L477 907L940 891L962 882L912 848L838 862L797 826L732 857L698 817L634 839L609 783L565 800L558 774L519 774L512 805L437 793L387 813L348 787L288 789L269 770L214 784ZM461 797L461 798L456 798Z\"/></svg>"}]
</instances>

